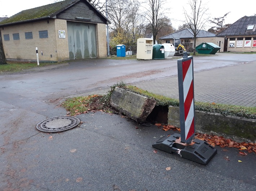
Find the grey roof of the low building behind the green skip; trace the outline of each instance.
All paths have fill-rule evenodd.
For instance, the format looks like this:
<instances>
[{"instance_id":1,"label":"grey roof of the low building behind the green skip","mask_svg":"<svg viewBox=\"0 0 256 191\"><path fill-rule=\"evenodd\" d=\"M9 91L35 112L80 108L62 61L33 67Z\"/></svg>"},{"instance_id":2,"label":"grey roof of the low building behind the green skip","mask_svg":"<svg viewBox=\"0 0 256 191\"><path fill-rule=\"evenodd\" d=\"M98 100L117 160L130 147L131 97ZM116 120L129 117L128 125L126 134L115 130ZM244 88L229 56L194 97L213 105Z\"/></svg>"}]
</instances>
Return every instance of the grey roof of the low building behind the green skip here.
<instances>
[{"instance_id":1,"label":"grey roof of the low building behind the green skip","mask_svg":"<svg viewBox=\"0 0 256 191\"><path fill-rule=\"evenodd\" d=\"M199 30L197 34L197 38L200 37L215 37L214 33ZM160 37L159 39L172 39L172 38L194 38L194 34L191 29L183 29L181 31L177 31L175 33L168 34L166 36Z\"/></svg>"}]
</instances>

